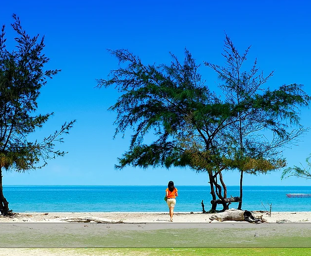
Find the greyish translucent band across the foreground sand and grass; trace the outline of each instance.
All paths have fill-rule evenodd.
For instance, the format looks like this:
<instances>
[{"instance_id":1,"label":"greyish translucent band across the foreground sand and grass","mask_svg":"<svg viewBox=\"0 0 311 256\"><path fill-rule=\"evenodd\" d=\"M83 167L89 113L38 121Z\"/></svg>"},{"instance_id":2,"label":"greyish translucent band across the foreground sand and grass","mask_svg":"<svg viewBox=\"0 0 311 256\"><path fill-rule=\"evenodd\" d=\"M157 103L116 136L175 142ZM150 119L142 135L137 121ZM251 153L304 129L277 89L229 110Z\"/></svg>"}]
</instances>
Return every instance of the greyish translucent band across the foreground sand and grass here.
<instances>
[{"instance_id":1,"label":"greyish translucent band across the foreground sand and grass","mask_svg":"<svg viewBox=\"0 0 311 256\"><path fill-rule=\"evenodd\" d=\"M311 247L311 223L2 223L0 247Z\"/></svg>"}]
</instances>

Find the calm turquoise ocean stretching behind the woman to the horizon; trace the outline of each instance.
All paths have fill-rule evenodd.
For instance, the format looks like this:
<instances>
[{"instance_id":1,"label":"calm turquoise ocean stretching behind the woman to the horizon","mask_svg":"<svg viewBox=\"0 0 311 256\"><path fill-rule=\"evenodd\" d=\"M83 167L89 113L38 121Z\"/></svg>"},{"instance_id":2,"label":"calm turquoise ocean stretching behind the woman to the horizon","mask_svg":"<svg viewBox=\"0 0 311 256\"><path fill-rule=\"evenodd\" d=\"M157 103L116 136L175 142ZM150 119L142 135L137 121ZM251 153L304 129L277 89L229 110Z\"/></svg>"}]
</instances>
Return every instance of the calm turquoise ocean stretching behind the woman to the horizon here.
<instances>
[{"instance_id":1,"label":"calm turquoise ocean stretching behind the woman to the horizon","mask_svg":"<svg viewBox=\"0 0 311 256\"><path fill-rule=\"evenodd\" d=\"M176 186L175 212L210 209L208 186ZM166 186L3 186L14 212L166 212ZM245 210L311 211L311 198L286 198L289 193L311 194L311 186L245 186ZM239 196L238 186L227 187L228 196ZM264 208L264 206L266 209ZM232 203L230 208L237 208ZM219 206L217 209L221 210Z\"/></svg>"}]
</instances>

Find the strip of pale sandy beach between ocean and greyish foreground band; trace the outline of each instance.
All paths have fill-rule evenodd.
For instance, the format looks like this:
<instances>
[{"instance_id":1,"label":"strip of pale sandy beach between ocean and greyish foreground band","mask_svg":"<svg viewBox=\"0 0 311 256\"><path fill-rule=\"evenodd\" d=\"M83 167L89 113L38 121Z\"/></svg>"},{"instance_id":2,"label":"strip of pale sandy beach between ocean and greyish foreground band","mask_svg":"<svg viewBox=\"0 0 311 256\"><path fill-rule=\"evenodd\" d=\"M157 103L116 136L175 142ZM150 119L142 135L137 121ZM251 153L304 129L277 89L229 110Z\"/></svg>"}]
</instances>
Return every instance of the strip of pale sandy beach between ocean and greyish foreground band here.
<instances>
[{"instance_id":1,"label":"strip of pale sandy beach between ocean and greyish foreground band","mask_svg":"<svg viewBox=\"0 0 311 256\"><path fill-rule=\"evenodd\" d=\"M311 211L304 212L267 212L252 211L255 217L262 216L267 223L311 223ZM174 212L174 223L215 223L209 218L214 215L201 212ZM20 212L13 216L0 216L0 223L90 223L103 221L107 223L169 223L169 212ZM93 219L93 221L92 221ZM224 221L222 223L236 221ZM240 223L240 222L239 222ZM242 222L243 223L243 222ZM245 222L246 223L246 222Z\"/></svg>"}]
</instances>

